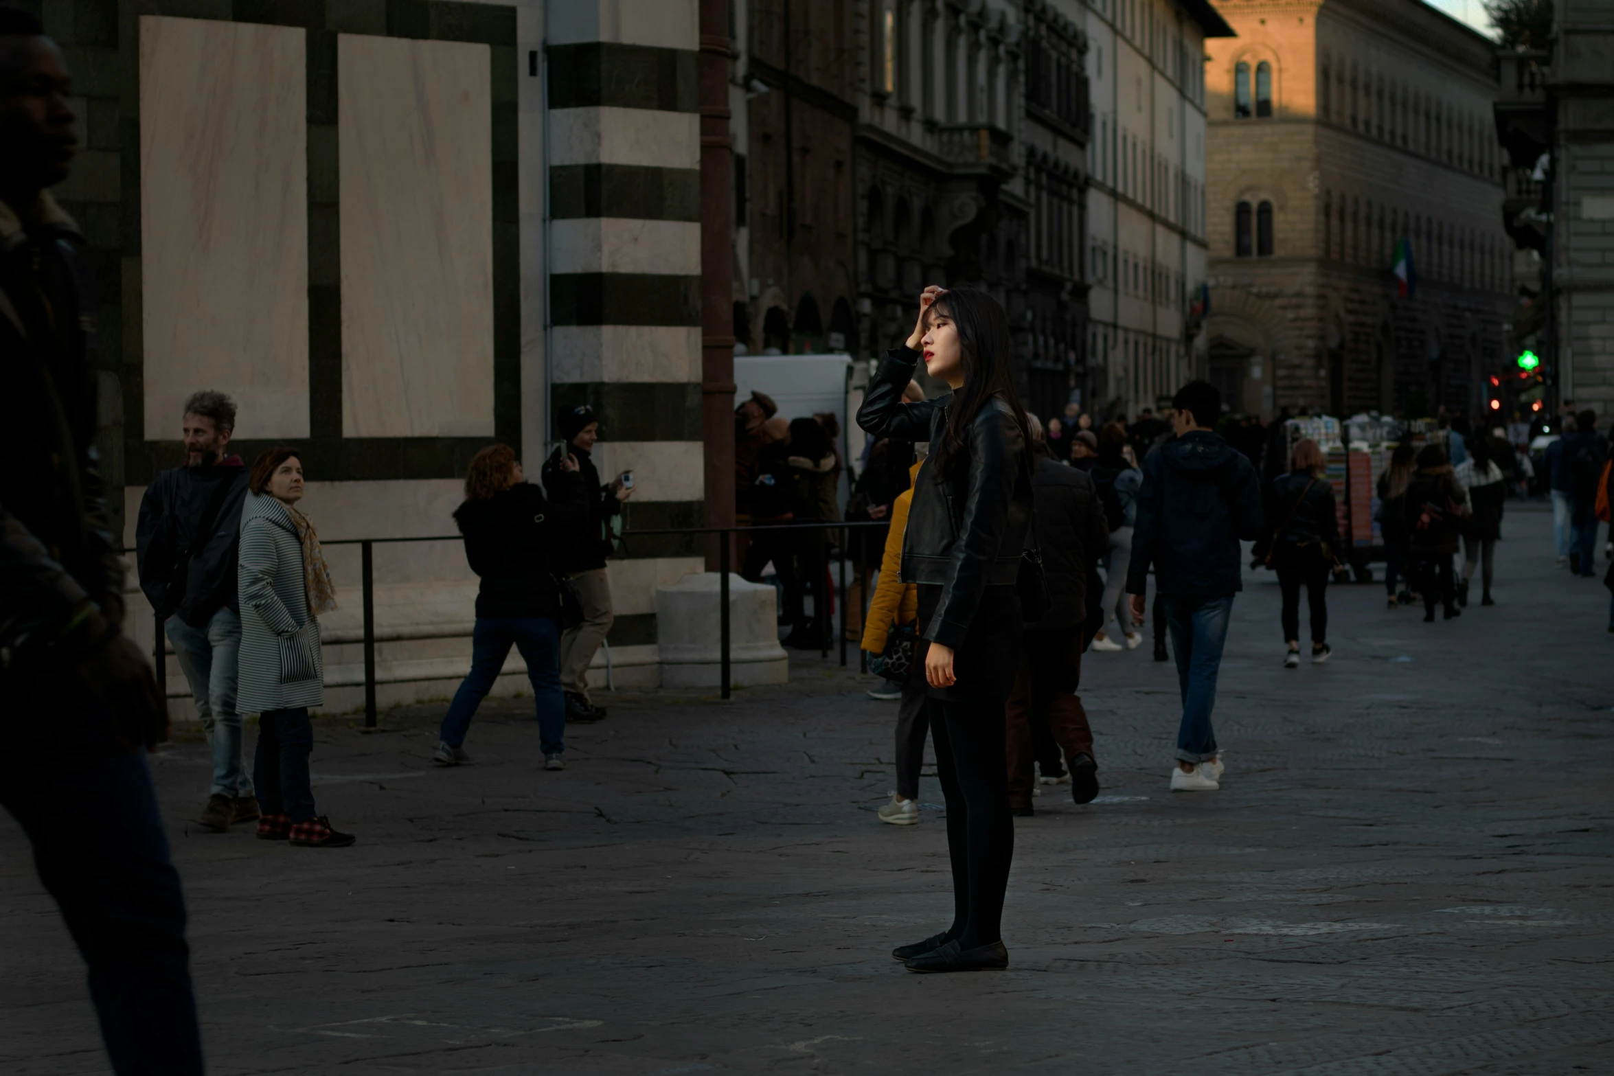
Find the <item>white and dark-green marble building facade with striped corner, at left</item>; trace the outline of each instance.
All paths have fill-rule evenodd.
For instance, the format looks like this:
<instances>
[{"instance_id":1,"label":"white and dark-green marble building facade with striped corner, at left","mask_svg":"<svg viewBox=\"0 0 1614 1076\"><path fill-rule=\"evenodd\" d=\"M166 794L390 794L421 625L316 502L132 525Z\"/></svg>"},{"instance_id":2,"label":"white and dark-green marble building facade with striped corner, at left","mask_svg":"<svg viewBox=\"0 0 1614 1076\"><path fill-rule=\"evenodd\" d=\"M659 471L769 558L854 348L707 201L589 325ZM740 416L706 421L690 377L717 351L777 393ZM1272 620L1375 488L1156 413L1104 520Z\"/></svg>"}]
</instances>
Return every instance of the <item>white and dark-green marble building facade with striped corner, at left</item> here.
<instances>
[{"instance_id":1,"label":"white and dark-green marble building facade with striped corner, at left","mask_svg":"<svg viewBox=\"0 0 1614 1076\"><path fill-rule=\"evenodd\" d=\"M79 94L86 152L58 195L105 297L126 544L181 460L186 395L234 395L232 448L294 445L332 542L328 708L362 682L341 542L452 536L471 455L505 442L536 473L555 407L600 413L599 469L638 478L629 526L700 523L694 0L39 8ZM655 587L700 566L683 537L612 561L618 682L655 682ZM452 690L476 594L462 544L378 545L374 579L381 702Z\"/></svg>"}]
</instances>

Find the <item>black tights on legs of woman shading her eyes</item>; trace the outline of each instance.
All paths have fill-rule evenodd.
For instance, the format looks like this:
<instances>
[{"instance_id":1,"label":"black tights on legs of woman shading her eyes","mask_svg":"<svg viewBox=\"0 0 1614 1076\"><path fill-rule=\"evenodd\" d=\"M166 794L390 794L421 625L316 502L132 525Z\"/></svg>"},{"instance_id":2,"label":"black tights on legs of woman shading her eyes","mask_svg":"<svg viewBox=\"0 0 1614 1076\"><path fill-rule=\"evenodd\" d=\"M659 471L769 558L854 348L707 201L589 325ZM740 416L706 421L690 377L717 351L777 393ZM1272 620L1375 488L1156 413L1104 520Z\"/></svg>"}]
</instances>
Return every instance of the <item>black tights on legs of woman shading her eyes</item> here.
<instances>
[{"instance_id":1,"label":"black tights on legs of woman shading her eyes","mask_svg":"<svg viewBox=\"0 0 1614 1076\"><path fill-rule=\"evenodd\" d=\"M947 803L952 928L960 949L1002 940L1004 890L1014 860L1004 707L925 700L936 778Z\"/></svg>"}]
</instances>

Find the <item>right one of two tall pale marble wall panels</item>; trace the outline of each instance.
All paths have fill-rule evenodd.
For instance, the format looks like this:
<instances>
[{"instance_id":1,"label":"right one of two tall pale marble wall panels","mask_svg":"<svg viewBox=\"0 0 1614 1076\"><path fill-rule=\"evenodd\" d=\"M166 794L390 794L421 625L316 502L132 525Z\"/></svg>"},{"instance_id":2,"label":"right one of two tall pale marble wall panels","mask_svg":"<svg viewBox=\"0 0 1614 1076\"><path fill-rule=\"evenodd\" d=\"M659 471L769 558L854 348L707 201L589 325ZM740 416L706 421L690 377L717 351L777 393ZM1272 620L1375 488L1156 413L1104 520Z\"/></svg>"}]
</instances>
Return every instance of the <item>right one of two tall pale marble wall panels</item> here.
<instances>
[{"instance_id":1,"label":"right one of two tall pale marble wall panels","mask_svg":"<svg viewBox=\"0 0 1614 1076\"><path fill-rule=\"evenodd\" d=\"M337 40L342 434L494 432L489 48Z\"/></svg>"}]
</instances>

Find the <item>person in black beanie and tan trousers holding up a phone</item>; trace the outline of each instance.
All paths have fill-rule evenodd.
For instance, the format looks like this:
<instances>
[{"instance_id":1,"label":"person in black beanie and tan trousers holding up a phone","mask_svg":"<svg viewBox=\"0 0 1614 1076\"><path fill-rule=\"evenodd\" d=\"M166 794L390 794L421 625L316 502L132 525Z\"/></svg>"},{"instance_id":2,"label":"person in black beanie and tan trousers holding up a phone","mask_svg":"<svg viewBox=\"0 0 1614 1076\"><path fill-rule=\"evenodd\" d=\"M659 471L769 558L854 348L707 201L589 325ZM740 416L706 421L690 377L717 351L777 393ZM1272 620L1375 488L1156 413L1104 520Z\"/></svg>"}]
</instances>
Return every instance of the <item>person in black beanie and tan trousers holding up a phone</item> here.
<instances>
[{"instance_id":1,"label":"person in black beanie and tan trousers holding up a phone","mask_svg":"<svg viewBox=\"0 0 1614 1076\"><path fill-rule=\"evenodd\" d=\"M560 576L571 582L583 603L583 623L568 628L560 637L560 687L567 692L567 721L589 723L605 716L602 707L589 702L589 663L605 642L610 631L610 581L605 574L605 557L612 552L610 518L621 511L621 502L633 495L617 476L608 484L600 482L594 469L592 450L599 440L600 424L594 408L586 403L562 408L555 426L578 461L578 478L587 490L587 519L555 550L555 566ZM544 487L550 489L552 476L560 466L560 450L544 463ZM554 495L554 492L550 492Z\"/></svg>"}]
</instances>

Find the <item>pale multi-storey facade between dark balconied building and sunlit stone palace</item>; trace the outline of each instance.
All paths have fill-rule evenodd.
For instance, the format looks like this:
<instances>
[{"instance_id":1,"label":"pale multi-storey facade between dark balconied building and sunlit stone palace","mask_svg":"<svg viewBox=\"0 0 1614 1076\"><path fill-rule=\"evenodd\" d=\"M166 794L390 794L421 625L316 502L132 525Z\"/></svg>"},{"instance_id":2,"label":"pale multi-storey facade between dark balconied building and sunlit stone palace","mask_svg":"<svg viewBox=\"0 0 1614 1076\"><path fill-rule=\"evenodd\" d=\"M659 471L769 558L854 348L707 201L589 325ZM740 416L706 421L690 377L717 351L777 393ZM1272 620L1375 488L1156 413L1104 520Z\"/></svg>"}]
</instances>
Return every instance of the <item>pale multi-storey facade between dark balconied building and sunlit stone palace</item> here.
<instances>
[{"instance_id":1,"label":"pale multi-storey facade between dark balconied building and sunlit stone palace","mask_svg":"<svg viewBox=\"0 0 1614 1076\"><path fill-rule=\"evenodd\" d=\"M1231 31L1204 0L1089 0L1086 410L1133 416L1204 366L1201 58Z\"/></svg>"}]
</instances>

